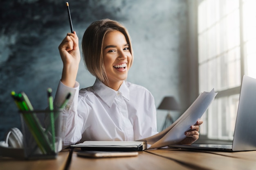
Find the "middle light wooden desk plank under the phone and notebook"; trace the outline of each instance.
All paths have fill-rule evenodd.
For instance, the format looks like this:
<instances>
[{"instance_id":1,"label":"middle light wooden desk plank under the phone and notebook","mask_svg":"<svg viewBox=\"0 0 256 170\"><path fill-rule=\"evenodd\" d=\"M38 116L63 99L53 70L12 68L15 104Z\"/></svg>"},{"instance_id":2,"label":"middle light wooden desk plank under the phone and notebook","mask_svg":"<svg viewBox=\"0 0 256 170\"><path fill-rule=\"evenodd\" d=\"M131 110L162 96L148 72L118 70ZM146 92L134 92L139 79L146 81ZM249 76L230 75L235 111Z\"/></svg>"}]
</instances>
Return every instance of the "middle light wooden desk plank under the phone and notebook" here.
<instances>
[{"instance_id":1,"label":"middle light wooden desk plank under the phone and notebook","mask_svg":"<svg viewBox=\"0 0 256 170\"><path fill-rule=\"evenodd\" d=\"M70 170L187 170L179 163L145 151L136 157L85 158L73 152Z\"/></svg>"}]
</instances>

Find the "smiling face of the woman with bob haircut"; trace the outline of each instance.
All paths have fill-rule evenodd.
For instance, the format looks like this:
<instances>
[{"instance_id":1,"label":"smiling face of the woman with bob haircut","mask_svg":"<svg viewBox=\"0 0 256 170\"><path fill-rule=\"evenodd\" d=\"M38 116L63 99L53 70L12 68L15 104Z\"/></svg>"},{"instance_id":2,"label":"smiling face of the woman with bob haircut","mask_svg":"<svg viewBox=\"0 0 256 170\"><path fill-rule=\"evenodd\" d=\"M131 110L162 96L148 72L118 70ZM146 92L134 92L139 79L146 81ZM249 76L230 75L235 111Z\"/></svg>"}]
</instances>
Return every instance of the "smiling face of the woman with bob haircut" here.
<instances>
[{"instance_id":1,"label":"smiling face of the woman with bob haircut","mask_svg":"<svg viewBox=\"0 0 256 170\"><path fill-rule=\"evenodd\" d=\"M112 89L117 90L128 76L132 60L129 47L120 31L111 31L103 39L103 62Z\"/></svg>"}]
</instances>

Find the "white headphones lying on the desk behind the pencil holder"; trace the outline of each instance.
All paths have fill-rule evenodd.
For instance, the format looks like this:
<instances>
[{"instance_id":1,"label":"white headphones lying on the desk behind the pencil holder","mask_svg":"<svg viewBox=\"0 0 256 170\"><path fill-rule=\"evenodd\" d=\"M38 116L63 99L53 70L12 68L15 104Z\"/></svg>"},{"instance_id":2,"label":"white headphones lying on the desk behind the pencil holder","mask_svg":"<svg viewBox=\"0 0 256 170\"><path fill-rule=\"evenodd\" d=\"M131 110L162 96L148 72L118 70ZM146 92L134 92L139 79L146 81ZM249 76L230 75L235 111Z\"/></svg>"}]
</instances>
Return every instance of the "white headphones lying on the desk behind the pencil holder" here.
<instances>
[{"instance_id":1,"label":"white headphones lying on the desk behind the pencil holder","mask_svg":"<svg viewBox=\"0 0 256 170\"><path fill-rule=\"evenodd\" d=\"M18 128L11 128L0 141L0 156L24 158L23 135Z\"/></svg>"}]
</instances>

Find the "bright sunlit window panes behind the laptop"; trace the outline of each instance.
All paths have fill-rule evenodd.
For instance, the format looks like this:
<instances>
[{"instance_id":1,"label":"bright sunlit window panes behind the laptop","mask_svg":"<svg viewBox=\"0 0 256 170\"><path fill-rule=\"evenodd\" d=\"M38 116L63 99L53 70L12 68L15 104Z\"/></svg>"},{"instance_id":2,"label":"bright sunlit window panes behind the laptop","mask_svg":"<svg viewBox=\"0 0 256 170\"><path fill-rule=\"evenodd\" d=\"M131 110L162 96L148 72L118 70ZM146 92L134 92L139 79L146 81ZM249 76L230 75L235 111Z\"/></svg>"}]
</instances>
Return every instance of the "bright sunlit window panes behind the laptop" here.
<instances>
[{"instance_id":1,"label":"bright sunlit window panes behind the laptop","mask_svg":"<svg viewBox=\"0 0 256 170\"><path fill-rule=\"evenodd\" d=\"M241 80L256 78L256 1L198 0L199 92L218 92L201 135L232 140Z\"/></svg>"}]
</instances>

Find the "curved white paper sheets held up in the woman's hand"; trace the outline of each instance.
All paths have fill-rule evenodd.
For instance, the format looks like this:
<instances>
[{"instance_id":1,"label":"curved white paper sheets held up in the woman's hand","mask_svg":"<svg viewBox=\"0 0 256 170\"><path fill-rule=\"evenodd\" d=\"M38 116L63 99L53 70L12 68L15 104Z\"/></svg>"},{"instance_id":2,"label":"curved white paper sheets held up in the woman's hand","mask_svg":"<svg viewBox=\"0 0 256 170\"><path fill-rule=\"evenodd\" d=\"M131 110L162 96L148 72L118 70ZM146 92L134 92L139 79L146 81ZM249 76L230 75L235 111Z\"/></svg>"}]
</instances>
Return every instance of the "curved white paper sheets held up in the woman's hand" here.
<instances>
[{"instance_id":1,"label":"curved white paper sheets held up in the woman's hand","mask_svg":"<svg viewBox=\"0 0 256 170\"><path fill-rule=\"evenodd\" d=\"M185 131L190 129L190 126L194 125L208 109L211 102L213 102L215 96L214 89L211 92L202 92L198 98L192 103L192 105L168 128L159 132L156 135L140 139L138 141L144 141L150 144L150 148L162 148L169 144L177 144L186 138Z\"/></svg>"}]
</instances>

